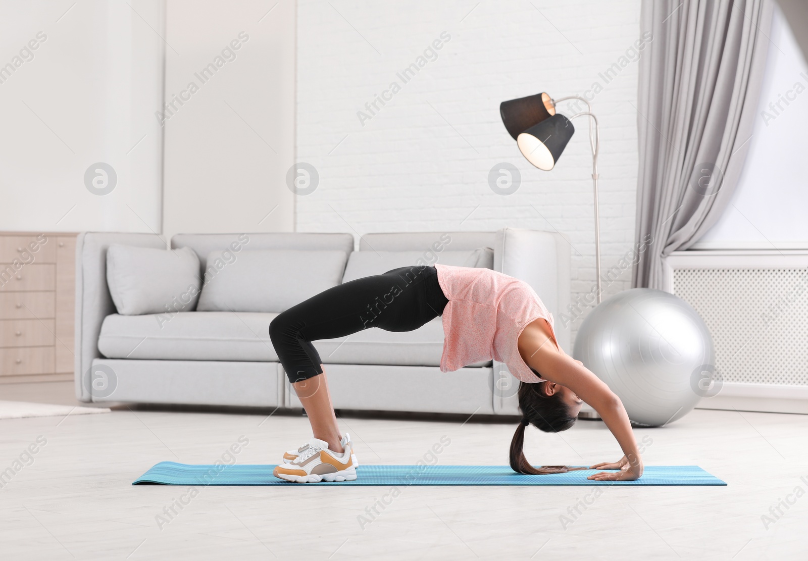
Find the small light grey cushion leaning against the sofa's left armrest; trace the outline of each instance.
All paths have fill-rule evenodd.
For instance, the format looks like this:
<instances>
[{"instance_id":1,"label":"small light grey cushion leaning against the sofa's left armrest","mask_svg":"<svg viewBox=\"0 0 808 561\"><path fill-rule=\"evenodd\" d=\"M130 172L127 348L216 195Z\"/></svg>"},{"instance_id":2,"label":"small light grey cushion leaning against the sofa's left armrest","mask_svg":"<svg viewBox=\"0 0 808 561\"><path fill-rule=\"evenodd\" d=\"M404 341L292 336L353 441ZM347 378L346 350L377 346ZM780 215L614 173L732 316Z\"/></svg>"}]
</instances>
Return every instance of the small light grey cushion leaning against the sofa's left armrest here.
<instances>
[{"instance_id":1,"label":"small light grey cushion leaning against the sofa's left armrest","mask_svg":"<svg viewBox=\"0 0 808 561\"><path fill-rule=\"evenodd\" d=\"M191 249L118 243L107 249L107 285L119 314L191 311L201 284L200 260Z\"/></svg>"}]
</instances>

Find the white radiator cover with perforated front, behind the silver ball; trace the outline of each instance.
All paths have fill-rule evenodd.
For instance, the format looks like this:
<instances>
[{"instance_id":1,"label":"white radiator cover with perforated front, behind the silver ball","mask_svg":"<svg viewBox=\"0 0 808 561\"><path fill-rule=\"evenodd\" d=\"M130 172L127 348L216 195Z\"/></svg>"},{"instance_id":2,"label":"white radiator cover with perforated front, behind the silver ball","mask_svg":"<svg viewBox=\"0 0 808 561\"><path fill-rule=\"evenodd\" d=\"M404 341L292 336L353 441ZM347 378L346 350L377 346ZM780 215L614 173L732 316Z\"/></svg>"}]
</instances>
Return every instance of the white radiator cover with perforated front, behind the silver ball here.
<instances>
[{"instance_id":1,"label":"white radiator cover with perforated front, behind the silver ball","mask_svg":"<svg viewBox=\"0 0 808 561\"><path fill-rule=\"evenodd\" d=\"M713 335L723 386L698 407L808 413L808 251L675 251L663 281Z\"/></svg>"}]
</instances>

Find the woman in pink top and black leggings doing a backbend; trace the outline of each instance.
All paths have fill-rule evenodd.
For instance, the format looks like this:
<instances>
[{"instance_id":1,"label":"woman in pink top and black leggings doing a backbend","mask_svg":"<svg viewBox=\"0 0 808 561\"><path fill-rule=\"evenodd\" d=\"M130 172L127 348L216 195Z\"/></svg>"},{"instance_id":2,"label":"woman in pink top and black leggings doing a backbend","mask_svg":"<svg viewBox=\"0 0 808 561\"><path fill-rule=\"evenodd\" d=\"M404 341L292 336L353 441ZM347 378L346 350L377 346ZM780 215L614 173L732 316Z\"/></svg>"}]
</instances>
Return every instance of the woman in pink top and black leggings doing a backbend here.
<instances>
[{"instance_id":1,"label":"woman in pink top and black leggings doing a backbend","mask_svg":"<svg viewBox=\"0 0 808 561\"><path fill-rule=\"evenodd\" d=\"M624 453L618 462L590 468L617 471L588 479L627 481L642 475L642 458L623 404L600 378L558 347L553 317L530 285L488 268L441 264L397 268L351 280L272 320L272 344L314 432L308 443L284 453L284 463L274 475L295 483L356 479L353 445L347 433L339 432L326 373L311 341L345 337L368 327L412 331L439 315L444 326L442 372L493 358L504 362L520 380L522 420L511 440L513 470L542 475L586 469L537 468L522 452L528 424L545 432L566 430L586 402Z\"/></svg>"}]
</instances>

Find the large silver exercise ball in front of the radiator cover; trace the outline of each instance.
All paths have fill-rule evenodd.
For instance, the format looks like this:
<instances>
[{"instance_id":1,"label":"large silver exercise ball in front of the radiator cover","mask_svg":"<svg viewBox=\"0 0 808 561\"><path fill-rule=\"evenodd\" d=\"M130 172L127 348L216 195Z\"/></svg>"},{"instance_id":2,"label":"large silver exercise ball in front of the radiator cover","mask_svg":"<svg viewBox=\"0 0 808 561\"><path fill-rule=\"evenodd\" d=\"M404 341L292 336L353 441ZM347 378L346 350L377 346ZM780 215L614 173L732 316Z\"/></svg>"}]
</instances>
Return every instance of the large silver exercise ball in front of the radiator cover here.
<instances>
[{"instance_id":1,"label":"large silver exercise ball in front of the radiator cover","mask_svg":"<svg viewBox=\"0 0 808 561\"><path fill-rule=\"evenodd\" d=\"M696 310L671 293L630 289L584 319L573 356L606 382L634 424L656 427L684 416L706 397L713 338Z\"/></svg>"}]
</instances>

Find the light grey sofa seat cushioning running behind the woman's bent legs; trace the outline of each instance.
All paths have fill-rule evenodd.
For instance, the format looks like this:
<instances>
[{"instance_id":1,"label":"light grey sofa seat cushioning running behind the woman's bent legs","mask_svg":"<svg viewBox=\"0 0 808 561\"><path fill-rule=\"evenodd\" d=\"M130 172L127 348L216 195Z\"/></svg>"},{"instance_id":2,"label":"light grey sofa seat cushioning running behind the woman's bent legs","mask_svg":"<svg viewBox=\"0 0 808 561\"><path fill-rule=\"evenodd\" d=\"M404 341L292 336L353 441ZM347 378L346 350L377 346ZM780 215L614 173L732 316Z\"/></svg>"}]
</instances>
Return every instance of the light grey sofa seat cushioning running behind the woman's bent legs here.
<instances>
[{"instance_id":1,"label":"light grey sofa seat cushioning running behind the woman's bent legs","mask_svg":"<svg viewBox=\"0 0 808 561\"><path fill-rule=\"evenodd\" d=\"M179 312L104 318L99 351L107 358L162 361L267 361L278 356L269 339L269 312ZM315 341L325 364L440 366L444 330L435 318L415 331L377 327ZM474 366L489 365L490 362Z\"/></svg>"}]
</instances>

